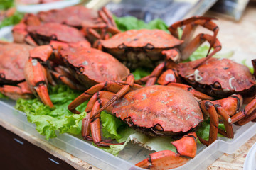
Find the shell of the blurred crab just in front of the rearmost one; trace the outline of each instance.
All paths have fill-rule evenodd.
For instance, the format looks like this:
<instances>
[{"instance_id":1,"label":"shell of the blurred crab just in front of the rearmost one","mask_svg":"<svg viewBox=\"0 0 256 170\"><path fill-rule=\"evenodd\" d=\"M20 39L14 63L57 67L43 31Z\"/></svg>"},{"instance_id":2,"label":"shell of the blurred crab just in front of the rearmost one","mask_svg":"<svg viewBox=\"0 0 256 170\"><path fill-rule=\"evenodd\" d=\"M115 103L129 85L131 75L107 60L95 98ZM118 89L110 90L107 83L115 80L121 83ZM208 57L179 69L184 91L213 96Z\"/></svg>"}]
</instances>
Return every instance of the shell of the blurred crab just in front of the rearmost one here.
<instances>
[{"instance_id":1,"label":"shell of the blurred crab just in front of the rearmost one","mask_svg":"<svg viewBox=\"0 0 256 170\"><path fill-rule=\"evenodd\" d=\"M28 26L26 29L40 45L47 44L50 40L60 42L86 41L78 29L61 23L42 23L39 26Z\"/></svg>"}]
</instances>

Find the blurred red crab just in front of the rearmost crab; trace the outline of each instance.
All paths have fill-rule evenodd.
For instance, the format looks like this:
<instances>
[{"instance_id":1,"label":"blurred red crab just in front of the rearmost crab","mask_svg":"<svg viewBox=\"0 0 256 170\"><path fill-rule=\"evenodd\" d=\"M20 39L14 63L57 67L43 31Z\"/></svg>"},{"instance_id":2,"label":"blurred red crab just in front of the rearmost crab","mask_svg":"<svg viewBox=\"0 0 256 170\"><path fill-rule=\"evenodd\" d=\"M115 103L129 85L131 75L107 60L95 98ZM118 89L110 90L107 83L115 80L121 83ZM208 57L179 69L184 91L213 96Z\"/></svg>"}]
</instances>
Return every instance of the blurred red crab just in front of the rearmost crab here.
<instances>
[{"instance_id":1,"label":"blurred red crab just in front of the rearmost crab","mask_svg":"<svg viewBox=\"0 0 256 170\"><path fill-rule=\"evenodd\" d=\"M21 21L13 28L14 42L27 43L30 45L45 45L51 40L65 43L82 43L90 47L84 35L76 28L61 23L40 23L31 20L31 25Z\"/></svg>"}]
</instances>

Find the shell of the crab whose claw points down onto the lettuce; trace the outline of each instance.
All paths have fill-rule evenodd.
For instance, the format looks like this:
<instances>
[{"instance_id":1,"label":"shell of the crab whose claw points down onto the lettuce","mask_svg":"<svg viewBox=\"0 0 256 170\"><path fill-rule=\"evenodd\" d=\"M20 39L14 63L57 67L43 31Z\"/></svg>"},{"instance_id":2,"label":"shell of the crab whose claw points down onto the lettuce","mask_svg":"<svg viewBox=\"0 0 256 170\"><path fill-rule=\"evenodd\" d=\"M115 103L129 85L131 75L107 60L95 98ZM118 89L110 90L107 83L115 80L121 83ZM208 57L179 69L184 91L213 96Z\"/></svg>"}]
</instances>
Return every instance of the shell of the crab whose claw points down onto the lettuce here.
<instances>
[{"instance_id":1,"label":"shell of the crab whose claw points down onto the lettuce","mask_svg":"<svg viewBox=\"0 0 256 170\"><path fill-rule=\"evenodd\" d=\"M107 80L121 81L129 69L112 55L95 48L68 47L60 50L68 69L86 88Z\"/></svg>"}]
</instances>

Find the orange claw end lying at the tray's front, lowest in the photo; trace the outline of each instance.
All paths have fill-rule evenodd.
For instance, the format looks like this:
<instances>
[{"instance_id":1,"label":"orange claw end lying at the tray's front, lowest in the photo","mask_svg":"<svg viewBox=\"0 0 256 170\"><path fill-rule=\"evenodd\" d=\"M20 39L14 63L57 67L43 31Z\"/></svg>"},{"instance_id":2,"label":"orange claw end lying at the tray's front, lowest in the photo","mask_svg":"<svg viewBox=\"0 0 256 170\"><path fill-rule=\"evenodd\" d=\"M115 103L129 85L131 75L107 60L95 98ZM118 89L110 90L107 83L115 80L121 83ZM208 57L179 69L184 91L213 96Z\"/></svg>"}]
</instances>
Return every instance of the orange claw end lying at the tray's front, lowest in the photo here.
<instances>
[{"instance_id":1,"label":"orange claw end lying at the tray's front, lowest in the photo","mask_svg":"<svg viewBox=\"0 0 256 170\"><path fill-rule=\"evenodd\" d=\"M144 169L174 169L178 166L186 164L189 158L181 157L170 150L164 150L149 154L149 158L136 164Z\"/></svg>"}]
</instances>

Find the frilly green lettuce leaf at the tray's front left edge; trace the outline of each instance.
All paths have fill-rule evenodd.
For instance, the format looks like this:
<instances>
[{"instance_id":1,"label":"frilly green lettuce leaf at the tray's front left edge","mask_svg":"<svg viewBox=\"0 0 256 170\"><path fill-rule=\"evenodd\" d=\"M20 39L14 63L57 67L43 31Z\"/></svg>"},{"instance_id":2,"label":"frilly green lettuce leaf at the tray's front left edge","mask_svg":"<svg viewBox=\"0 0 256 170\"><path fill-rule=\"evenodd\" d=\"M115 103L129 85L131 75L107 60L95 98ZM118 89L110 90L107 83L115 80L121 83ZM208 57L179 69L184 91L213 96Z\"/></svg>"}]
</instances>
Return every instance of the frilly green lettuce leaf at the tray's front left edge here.
<instances>
[{"instance_id":1,"label":"frilly green lettuce leaf at the tray's front left edge","mask_svg":"<svg viewBox=\"0 0 256 170\"><path fill-rule=\"evenodd\" d=\"M28 122L35 123L36 130L41 135L45 135L46 139L56 137L55 131L60 133L69 132L71 134L79 134L81 132L81 120L85 118L87 102L78 106L78 111L82 113L75 115L68 110L68 105L77 96L80 91L69 89L63 84L58 86L50 86L50 99L53 101L55 108L50 108L37 98L31 100L18 99L15 108L26 113Z\"/></svg>"}]
</instances>

